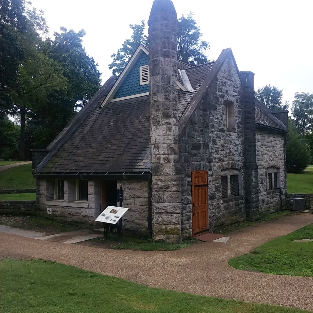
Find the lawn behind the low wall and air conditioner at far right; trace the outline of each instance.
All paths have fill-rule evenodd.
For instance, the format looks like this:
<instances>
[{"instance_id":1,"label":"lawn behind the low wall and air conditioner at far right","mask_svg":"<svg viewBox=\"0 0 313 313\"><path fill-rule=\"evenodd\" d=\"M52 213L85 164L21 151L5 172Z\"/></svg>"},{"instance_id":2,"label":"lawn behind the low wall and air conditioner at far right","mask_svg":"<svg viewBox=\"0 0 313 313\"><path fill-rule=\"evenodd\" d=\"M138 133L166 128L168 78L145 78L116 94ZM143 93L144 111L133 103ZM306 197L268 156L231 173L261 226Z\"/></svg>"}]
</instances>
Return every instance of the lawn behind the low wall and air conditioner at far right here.
<instances>
[{"instance_id":1,"label":"lawn behind the low wall and air conditioner at far right","mask_svg":"<svg viewBox=\"0 0 313 313\"><path fill-rule=\"evenodd\" d=\"M313 193L313 167L312 170L301 174L287 173L287 192Z\"/></svg>"}]
</instances>

